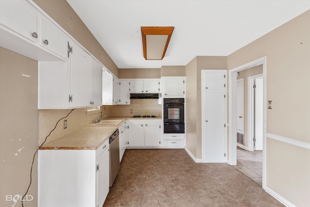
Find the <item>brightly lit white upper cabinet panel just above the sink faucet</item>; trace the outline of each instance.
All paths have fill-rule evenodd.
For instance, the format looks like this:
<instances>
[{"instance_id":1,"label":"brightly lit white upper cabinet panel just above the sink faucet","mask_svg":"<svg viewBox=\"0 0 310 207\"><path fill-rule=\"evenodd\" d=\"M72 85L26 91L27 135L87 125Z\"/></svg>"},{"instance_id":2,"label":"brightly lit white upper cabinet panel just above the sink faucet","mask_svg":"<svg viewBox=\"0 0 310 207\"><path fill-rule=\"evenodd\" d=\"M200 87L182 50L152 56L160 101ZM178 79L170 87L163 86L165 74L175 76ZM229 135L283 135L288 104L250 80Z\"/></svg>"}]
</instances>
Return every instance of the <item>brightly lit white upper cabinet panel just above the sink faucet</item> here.
<instances>
[{"instance_id":1,"label":"brightly lit white upper cabinet panel just above the sink faucet","mask_svg":"<svg viewBox=\"0 0 310 207\"><path fill-rule=\"evenodd\" d=\"M109 72L102 73L102 105L113 104L113 76Z\"/></svg>"}]
</instances>

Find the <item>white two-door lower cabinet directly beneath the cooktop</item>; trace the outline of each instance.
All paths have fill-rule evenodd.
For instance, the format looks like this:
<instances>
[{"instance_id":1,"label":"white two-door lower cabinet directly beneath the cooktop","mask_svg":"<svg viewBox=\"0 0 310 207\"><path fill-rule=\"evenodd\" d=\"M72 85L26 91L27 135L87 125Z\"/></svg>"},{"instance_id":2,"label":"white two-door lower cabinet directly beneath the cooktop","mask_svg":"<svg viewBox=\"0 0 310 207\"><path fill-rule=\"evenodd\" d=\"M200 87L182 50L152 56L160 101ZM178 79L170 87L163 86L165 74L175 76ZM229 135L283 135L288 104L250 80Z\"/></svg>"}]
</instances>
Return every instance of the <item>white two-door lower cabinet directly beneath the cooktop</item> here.
<instances>
[{"instance_id":1,"label":"white two-door lower cabinet directly beneath the cooktop","mask_svg":"<svg viewBox=\"0 0 310 207\"><path fill-rule=\"evenodd\" d=\"M160 146L161 120L127 120L128 147Z\"/></svg>"}]
</instances>

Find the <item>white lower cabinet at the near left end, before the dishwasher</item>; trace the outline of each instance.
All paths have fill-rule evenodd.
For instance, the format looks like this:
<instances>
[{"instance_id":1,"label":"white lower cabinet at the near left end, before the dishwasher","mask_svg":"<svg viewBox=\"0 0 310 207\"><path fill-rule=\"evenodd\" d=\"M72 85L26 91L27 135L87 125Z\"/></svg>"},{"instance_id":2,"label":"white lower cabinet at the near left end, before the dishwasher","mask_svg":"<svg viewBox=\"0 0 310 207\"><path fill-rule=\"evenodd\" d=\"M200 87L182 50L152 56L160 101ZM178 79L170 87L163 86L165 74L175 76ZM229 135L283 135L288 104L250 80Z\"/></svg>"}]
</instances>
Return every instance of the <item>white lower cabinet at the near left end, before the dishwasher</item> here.
<instances>
[{"instance_id":1,"label":"white lower cabinet at the near left end, before the dishwasher","mask_svg":"<svg viewBox=\"0 0 310 207\"><path fill-rule=\"evenodd\" d=\"M102 207L109 192L109 139L97 150L39 150L38 207Z\"/></svg>"}]
</instances>

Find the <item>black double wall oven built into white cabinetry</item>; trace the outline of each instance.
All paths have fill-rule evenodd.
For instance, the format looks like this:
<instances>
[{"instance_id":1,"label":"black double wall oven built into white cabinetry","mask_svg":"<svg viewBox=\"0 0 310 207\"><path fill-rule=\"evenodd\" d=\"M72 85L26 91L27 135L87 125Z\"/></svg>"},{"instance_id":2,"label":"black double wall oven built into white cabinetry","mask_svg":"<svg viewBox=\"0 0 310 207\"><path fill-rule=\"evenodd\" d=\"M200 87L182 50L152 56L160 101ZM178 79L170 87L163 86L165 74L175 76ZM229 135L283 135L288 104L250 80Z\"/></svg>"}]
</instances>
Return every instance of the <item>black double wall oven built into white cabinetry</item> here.
<instances>
[{"instance_id":1,"label":"black double wall oven built into white cabinetry","mask_svg":"<svg viewBox=\"0 0 310 207\"><path fill-rule=\"evenodd\" d=\"M184 98L164 98L164 133L185 133Z\"/></svg>"}]
</instances>

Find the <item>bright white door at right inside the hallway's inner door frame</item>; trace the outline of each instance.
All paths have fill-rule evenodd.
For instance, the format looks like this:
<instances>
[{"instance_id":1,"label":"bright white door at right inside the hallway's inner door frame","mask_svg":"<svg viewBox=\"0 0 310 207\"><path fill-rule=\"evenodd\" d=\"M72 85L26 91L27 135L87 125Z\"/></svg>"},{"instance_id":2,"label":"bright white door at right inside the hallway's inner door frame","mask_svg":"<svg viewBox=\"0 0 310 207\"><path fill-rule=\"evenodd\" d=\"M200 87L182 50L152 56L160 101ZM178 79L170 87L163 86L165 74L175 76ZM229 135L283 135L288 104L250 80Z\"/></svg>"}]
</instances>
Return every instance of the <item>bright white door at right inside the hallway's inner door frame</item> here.
<instances>
[{"instance_id":1,"label":"bright white door at right inside the hallway's inner door frame","mask_svg":"<svg viewBox=\"0 0 310 207\"><path fill-rule=\"evenodd\" d=\"M255 147L263 150L263 78L255 79Z\"/></svg>"}]
</instances>

